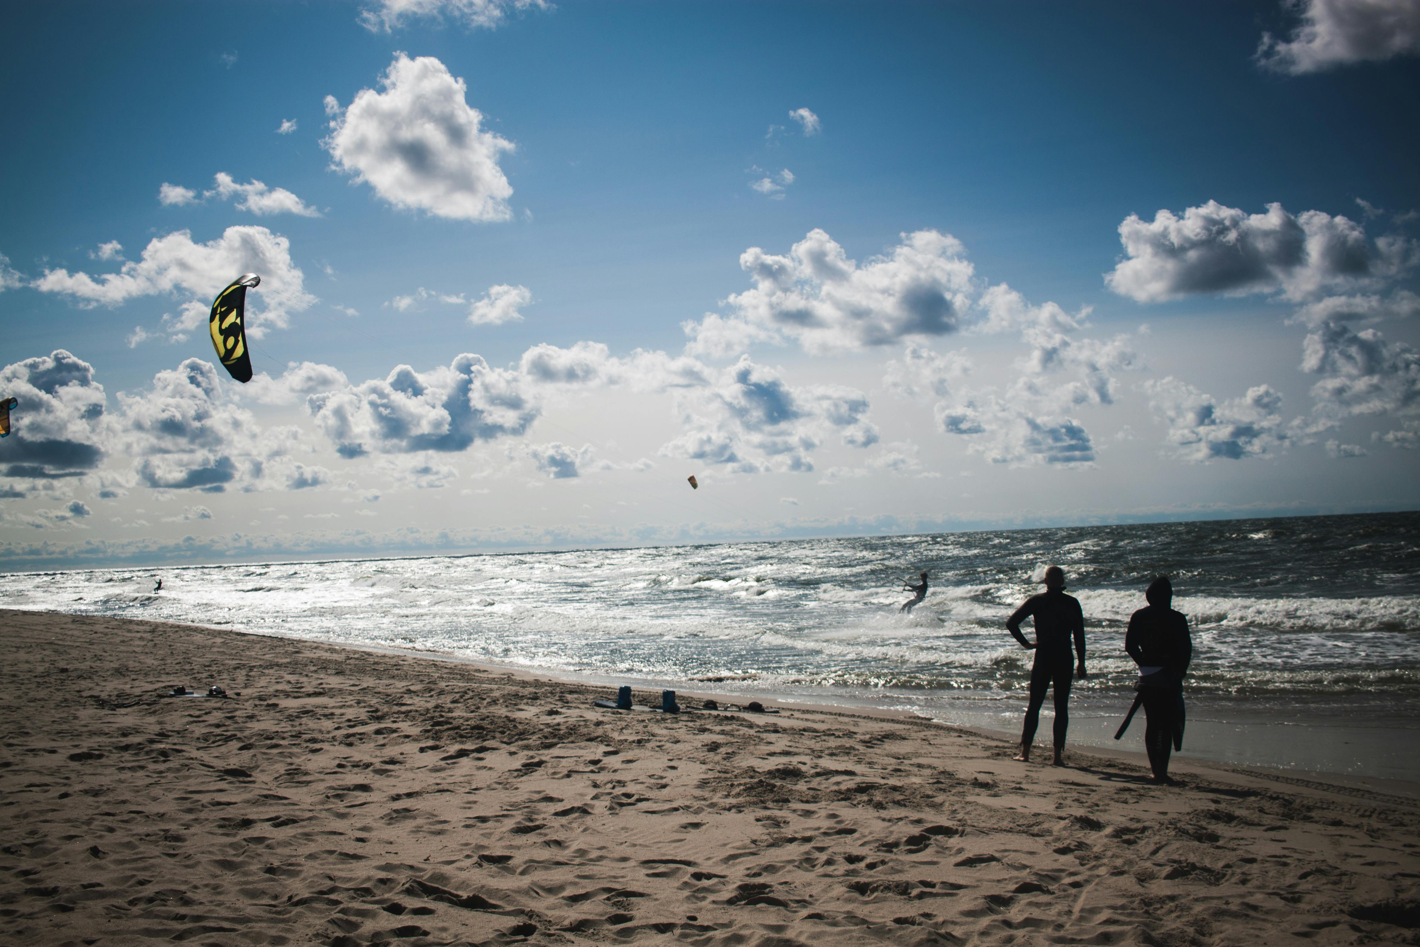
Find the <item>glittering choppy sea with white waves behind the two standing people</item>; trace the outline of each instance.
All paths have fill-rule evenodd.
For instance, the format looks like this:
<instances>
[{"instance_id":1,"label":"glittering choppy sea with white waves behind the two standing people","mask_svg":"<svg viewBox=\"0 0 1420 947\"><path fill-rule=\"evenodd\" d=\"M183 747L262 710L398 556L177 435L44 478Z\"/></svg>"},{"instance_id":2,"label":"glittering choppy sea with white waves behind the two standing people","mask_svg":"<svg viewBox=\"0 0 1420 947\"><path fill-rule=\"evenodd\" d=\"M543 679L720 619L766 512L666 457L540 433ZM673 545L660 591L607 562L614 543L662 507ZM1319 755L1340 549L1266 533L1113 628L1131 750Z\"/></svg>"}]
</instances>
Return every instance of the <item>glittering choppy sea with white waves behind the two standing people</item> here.
<instances>
[{"instance_id":1,"label":"glittering choppy sea with white waves behind the two standing people","mask_svg":"<svg viewBox=\"0 0 1420 947\"><path fill-rule=\"evenodd\" d=\"M1074 741L1137 748L1142 718L1109 738L1135 679L1123 632L1167 574L1194 639L1186 755L1420 779L1420 513L31 572L0 606L1014 731L1031 655L1004 620L1049 564L1086 620ZM923 569L932 589L903 615Z\"/></svg>"}]
</instances>

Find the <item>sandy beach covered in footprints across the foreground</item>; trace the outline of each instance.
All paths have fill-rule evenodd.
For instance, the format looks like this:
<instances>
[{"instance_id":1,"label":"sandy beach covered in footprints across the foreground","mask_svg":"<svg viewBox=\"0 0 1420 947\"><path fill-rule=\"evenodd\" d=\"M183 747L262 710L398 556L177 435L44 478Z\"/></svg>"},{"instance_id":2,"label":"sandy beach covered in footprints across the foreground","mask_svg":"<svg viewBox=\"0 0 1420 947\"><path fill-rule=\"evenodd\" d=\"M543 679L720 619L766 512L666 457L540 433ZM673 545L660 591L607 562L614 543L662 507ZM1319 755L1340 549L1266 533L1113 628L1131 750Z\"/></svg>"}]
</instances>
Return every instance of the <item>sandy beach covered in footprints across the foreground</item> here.
<instances>
[{"instance_id":1,"label":"sandy beach covered in footprints across the foreground","mask_svg":"<svg viewBox=\"0 0 1420 947\"><path fill-rule=\"evenodd\" d=\"M6 611L0 642L3 944L1420 943L1406 784L1180 761L1157 788L1127 754L605 711L183 625Z\"/></svg>"}]
</instances>

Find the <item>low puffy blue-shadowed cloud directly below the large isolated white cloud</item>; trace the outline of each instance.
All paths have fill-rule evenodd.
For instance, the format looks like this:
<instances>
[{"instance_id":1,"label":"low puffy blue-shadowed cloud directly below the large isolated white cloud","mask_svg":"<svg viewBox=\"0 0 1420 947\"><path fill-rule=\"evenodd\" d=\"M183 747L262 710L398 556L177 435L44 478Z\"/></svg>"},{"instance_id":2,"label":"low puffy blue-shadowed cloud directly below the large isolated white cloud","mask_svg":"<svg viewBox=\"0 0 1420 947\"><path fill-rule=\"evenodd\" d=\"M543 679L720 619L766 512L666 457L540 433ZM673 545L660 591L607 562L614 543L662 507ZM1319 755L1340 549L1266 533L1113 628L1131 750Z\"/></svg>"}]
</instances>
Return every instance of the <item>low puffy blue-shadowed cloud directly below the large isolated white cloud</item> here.
<instances>
[{"instance_id":1,"label":"low puffy blue-shadowed cloud directly below the large isolated white cloud","mask_svg":"<svg viewBox=\"0 0 1420 947\"><path fill-rule=\"evenodd\" d=\"M525 433L540 413L525 389L520 372L464 354L449 368L400 365L386 379L311 395L307 409L345 457L459 451Z\"/></svg>"}]
</instances>

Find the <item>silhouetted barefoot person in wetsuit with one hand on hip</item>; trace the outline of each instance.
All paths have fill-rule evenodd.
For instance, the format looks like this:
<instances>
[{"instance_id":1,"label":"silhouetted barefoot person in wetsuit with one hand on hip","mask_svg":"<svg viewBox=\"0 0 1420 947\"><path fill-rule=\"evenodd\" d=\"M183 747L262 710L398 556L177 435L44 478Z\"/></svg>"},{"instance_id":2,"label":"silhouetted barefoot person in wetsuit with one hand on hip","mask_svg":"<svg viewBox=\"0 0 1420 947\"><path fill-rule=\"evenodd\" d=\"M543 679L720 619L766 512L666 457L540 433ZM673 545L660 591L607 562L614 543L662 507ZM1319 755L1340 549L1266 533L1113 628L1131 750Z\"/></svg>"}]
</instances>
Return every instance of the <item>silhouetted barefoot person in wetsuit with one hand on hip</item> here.
<instances>
[{"instance_id":1,"label":"silhouetted barefoot person in wetsuit with one hand on hip","mask_svg":"<svg viewBox=\"0 0 1420 947\"><path fill-rule=\"evenodd\" d=\"M1027 616L1035 618L1035 640L1025 640L1021 633L1021 622ZM1021 762L1030 762L1031 744L1035 741L1035 727L1041 721L1041 704L1045 703L1045 691L1055 689L1055 765L1065 765L1061 755L1065 751L1065 731L1069 730L1069 684L1071 673L1071 639L1075 640L1075 653L1079 663L1074 674L1085 680L1085 613L1079 608L1079 601L1065 595L1065 572L1052 565L1045 569L1045 591L1025 599L1025 605L1015 609L1011 618L1005 619L1005 628L1021 647L1035 652L1035 663L1031 666L1031 703L1025 708L1025 726L1021 728Z\"/></svg>"}]
</instances>

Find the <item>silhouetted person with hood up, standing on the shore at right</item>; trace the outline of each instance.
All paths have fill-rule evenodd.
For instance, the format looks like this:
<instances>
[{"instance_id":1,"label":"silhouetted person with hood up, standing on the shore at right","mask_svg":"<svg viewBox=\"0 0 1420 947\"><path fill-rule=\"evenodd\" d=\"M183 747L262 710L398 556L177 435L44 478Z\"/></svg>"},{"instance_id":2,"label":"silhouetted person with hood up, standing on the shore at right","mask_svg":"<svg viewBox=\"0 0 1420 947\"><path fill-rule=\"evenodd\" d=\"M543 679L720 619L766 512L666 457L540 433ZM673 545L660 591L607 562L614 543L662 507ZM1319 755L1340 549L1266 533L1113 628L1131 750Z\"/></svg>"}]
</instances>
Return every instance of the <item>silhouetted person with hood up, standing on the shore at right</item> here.
<instances>
[{"instance_id":1,"label":"silhouetted person with hood up, standing on the shore at right","mask_svg":"<svg viewBox=\"0 0 1420 947\"><path fill-rule=\"evenodd\" d=\"M1169 755L1183 748L1183 676L1193 660L1193 639L1189 619L1174 612L1173 584L1160 575L1145 592L1149 601L1129 616L1125 650L1139 664L1140 703L1149 723L1145 727L1145 750L1154 782L1170 782Z\"/></svg>"}]
</instances>

